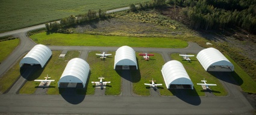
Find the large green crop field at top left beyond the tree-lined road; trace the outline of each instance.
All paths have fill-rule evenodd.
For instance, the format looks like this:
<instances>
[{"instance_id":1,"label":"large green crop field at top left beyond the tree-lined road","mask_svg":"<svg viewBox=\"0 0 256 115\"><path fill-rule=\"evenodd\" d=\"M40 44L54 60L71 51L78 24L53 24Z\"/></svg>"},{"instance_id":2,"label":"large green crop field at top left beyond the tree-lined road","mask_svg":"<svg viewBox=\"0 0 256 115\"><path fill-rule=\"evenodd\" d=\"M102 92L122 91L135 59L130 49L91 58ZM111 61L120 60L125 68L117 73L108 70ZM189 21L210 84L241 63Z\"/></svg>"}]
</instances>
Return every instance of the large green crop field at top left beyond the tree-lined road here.
<instances>
[{"instance_id":1,"label":"large green crop field at top left beyond the tree-lined road","mask_svg":"<svg viewBox=\"0 0 256 115\"><path fill-rule=\"evenodd\" d=\"M72 14L86 14L88 10L98 11L100 8L101 10L110 10L114 8L127 7L131 3L136 4L139 2L141 1L106 0L102 2L93 0L3 0L0 4L0 33L52 20L58 20Z\"/></svg>"}]
</instances>

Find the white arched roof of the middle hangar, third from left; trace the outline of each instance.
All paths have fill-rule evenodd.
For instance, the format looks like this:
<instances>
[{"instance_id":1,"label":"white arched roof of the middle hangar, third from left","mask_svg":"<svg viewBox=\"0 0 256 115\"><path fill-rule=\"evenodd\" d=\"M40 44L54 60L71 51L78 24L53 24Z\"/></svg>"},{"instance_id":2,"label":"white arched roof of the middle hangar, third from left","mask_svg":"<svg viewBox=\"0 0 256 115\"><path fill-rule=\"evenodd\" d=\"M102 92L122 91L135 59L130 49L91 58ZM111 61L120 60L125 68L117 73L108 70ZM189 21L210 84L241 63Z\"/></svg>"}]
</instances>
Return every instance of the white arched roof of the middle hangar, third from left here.
<instances>
[{"instance_id":1,"label":"white arched roof of the middle hangar, third from left","mask_svg":"<svg viewBox=\"0 0 256 115\"><path fill-rule=\"evenodd\" d=\"M137 66L136 54L130 46L122 46L117 49L114 55L114 69L116 66Z\"/></svg>"}]
</instances>

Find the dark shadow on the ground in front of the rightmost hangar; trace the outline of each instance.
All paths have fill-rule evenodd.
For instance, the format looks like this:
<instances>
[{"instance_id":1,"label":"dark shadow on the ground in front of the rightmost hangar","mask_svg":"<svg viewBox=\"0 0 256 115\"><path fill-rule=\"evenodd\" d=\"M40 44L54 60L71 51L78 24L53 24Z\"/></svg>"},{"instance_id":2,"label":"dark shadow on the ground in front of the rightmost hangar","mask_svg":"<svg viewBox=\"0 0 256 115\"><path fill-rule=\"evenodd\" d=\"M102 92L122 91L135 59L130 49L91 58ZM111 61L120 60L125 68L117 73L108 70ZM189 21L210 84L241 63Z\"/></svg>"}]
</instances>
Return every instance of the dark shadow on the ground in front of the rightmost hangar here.
<instances>
[{"instance_id":1,"label":"dark shadow on the ground in front of the rightmost hangar","mask_svg":"<svg viewBox=\"0 0 256 115\"><path fill-rule=\"evenodd\" d=\"M240 78L240 76L237 75L235 71L234 72L208 72L208 73L220 79L221 81L229 82L235 85L243 84L243 79Z\"/></svg>"}]
</instances>

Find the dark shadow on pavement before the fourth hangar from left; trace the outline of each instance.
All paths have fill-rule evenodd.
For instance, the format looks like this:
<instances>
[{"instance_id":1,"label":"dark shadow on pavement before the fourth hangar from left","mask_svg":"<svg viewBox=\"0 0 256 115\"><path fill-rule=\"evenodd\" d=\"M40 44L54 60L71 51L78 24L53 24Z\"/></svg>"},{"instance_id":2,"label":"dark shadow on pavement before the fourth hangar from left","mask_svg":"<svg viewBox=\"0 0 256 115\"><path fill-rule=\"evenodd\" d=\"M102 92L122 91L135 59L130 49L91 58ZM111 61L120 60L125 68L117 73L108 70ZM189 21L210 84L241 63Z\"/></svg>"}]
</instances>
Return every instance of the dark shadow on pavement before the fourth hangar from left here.
<instances>
[{"instance_id":1,"label":"dark shadow on pavement before the fourth hangar from left","mask_svg":"<svg viewBox=\"0 0 256 115\"><path fill-rule=\"evenodd\" d=\"M195 89L195 87L194 87ZM191 105L200 105L201 99L196 92L196 90L188 90L188 89L169 89L169 91L176 96L177 98L181 99L182 101L191 104Z\"/></svg>"}]
</instances>

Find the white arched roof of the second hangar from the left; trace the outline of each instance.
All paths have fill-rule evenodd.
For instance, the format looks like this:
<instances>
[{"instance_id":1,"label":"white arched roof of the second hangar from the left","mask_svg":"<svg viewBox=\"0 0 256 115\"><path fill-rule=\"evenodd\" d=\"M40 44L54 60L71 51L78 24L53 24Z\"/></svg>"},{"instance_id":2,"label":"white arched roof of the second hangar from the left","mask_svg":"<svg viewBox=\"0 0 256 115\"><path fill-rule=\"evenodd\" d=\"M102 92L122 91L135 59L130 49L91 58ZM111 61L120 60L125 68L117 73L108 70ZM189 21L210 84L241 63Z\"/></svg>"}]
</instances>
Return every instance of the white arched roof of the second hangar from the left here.
<instances>
[{"instance_id":1,"label":"white arched roof of the second hangar from the left","mask_svg":"<svg viewBox=\"0 0 256 115\"><path fill-rule=\"evenodd\" d=\"M73 58L67 63L58 81L58 87L60 87L61 82L82 83L83 87L86 87L89 72L90 66L86 61L81 58Z\"/></svg>"}]
</instances>

